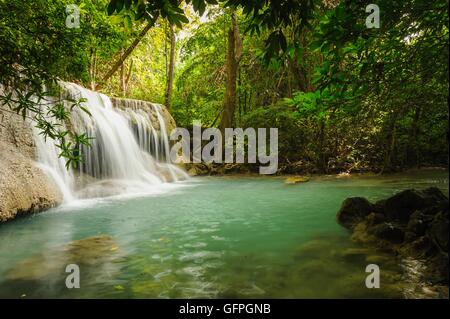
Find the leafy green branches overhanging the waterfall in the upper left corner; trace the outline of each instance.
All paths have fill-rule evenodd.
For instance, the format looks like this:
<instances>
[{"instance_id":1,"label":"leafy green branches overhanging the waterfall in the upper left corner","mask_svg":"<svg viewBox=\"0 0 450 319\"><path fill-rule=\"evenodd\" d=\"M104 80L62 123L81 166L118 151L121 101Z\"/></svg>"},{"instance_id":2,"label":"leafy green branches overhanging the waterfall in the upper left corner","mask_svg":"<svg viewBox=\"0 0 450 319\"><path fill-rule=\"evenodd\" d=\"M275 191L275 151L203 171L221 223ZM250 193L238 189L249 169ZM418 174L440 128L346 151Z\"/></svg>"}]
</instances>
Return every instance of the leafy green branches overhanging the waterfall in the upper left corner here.
<instances>
[{"instance_id":1,"label":"leafy green branches overhanging the waterfall in the upper left corner","mask_svg":"<svg viewBox=\"0 0 450 319\"><path fill-rule=\"evenodd\" d=\"M80 8L80 28L66 27L66 8L74 2ZM60 96L60 79L89 83L92 52L100 59L110 58L126 40L122 28L108 20L106 3L0 2L0 107L34 120L45 138L55 140L67 165L76 165L78 146L89 145L89 138L64 129L69 113L63 106L70 105L70 111L82 107L82 101L60 99L49 110L39 105L50 105L50 95Z\"/></svg>"}]
</instances>

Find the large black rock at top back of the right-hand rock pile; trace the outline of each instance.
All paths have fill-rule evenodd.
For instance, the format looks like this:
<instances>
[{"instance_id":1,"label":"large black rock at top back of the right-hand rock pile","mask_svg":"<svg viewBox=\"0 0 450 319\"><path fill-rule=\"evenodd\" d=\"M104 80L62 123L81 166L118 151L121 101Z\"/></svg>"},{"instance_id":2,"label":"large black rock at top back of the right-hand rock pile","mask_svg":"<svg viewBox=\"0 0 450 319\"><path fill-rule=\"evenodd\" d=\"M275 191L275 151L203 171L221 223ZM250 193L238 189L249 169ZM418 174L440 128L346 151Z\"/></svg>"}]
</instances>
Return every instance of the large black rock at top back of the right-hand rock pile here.
<instances>
[{"instance_id":1,"label":"large black rock at top back of the right-hand rock pile","mask_svg":"<svg viewBox=\"0 0 450 319\"><path fill-rule=\"evenodd\" d=\"M436 205L444 200L445 195L435 187L424 191L408 189L388 198L384 203L384 213L389 219L407 223L416 210Z\"/></svg>"}]
</instances>

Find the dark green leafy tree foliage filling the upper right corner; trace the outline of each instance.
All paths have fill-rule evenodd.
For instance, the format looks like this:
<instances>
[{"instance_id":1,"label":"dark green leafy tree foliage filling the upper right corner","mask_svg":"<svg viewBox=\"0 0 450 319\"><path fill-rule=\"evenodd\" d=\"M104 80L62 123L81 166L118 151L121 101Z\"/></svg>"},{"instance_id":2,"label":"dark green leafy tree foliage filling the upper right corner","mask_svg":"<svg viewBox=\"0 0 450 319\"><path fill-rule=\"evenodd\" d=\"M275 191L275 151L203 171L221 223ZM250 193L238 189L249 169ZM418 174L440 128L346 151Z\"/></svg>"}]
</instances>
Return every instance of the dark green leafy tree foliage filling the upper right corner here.
<instances>
[{"instance_id":1,"label":"dark green leafy tree foliage filling the upper right corner","mask_svg":"<svg viewBox=\"0 0 450 319\"><path fill-rule=\"evenodd\" d=\"M378 5L380 29L365 27L360 1L342 2L324 15L315 41L326 60L319 88L345 111L382 119L381 138L390 145L381 150L384 169L430 161L436 143L448 154L447 3Z\"/></svg>"}]
</instances>

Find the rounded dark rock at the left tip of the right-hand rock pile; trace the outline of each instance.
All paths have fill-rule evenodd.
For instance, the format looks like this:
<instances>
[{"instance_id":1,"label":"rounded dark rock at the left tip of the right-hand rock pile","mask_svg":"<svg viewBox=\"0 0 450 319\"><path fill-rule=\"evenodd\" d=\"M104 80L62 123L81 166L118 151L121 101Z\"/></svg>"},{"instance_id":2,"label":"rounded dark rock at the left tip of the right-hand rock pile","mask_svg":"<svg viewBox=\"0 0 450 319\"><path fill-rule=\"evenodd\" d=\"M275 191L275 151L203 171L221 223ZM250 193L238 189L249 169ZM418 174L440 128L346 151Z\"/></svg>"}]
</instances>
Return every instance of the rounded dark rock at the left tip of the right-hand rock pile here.
<instances>
[{"instance_id":1,"label":"rounded dark rock at the left tip of the right-hand rock pile","mask_svg":"<svg viewBox=\"0 0 450 319\"><path fill-rule=\"evenodd\" d=\"M373 205L367 199L362 197L347 198L337 213L337 222L346 228L352 229L372 211Z\"/></svg>"}]
</instances>

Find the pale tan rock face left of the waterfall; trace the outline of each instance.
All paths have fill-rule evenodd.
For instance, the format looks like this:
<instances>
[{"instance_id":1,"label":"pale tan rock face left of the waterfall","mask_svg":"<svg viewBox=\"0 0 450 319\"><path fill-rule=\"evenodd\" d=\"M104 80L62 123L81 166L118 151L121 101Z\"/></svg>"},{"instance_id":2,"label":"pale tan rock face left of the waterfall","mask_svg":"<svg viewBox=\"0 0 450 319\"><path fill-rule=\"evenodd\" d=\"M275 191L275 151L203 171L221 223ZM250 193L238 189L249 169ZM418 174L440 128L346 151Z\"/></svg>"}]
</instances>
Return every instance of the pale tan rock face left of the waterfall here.
<instances>
[{"instance_id":1,"label":"pale tan rock face left of the waterfall","mask_svg":"<svg viewBox=\"0 0 450 319\"><path fill-rule=\"evenodd\" d=\"M31 126L0 110L0 222L61 202L54 183L36 166Z\"/></svg>"}]
</instances>

